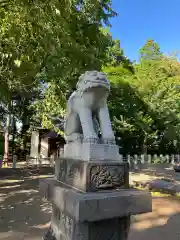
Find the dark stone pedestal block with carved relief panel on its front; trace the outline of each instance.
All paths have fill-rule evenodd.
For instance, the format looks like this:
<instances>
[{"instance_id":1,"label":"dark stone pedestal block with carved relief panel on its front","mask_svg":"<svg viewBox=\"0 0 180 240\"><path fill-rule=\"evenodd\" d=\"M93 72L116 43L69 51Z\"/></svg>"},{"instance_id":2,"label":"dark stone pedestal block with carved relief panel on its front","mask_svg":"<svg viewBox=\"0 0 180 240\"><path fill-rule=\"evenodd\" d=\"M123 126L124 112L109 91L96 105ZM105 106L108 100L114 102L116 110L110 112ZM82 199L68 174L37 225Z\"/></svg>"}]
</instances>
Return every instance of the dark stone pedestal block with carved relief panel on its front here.
<instances>
[{"instance_id":1,"label":"dark stone pedestal block with carved relief panel on its front","mask_svg":"<svg viewBox=\"0 0 180 240\"><path fill-rule=\"evenodd\" d=\"M57 159L55 164L58 181L84 192L129 187L128 163Z\"/></svg>"}]
</instances>

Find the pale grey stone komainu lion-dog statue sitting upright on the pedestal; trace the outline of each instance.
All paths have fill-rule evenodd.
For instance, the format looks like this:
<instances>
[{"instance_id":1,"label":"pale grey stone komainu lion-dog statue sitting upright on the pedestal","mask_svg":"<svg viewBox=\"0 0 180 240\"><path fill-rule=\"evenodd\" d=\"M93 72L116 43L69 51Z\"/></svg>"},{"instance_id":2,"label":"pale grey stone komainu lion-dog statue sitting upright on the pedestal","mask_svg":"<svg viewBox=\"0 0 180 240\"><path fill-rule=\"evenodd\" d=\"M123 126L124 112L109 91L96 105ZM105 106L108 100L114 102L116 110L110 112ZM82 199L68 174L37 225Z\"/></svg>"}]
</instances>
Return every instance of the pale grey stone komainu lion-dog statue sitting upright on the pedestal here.
<instances>
[{"instance_id":1,"label":"pale grey stone komainu lion-dog statue sitting upright on the pedestal","mask_svg":"<svg viewBox=\"0 0 180 240\"><path fill-rule=\"evenodd\" d=\"M80 76L76 88L67 103L66 141L115 144L107 107L110 83L106 75L87 71Z\"/></svg>"}]
</instances>

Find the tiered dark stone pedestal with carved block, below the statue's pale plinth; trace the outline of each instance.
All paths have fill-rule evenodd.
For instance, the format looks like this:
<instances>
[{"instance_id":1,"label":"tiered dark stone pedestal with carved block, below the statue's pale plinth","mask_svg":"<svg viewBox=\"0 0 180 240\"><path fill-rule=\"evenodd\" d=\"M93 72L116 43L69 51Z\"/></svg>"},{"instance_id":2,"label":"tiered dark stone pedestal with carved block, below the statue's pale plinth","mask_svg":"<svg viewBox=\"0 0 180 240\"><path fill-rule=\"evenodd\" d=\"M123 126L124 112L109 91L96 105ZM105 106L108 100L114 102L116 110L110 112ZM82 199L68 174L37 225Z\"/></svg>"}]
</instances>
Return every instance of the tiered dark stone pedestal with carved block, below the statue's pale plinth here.
<instances>
[{"instance_id":1,"label":"tiered dark stone pedestal with carved block, below the statue's pale plinth","mask_svg":"<svg viewBox=\"0 0 180 240\"><path fill-rule=\"evenodd\" d=\"M53 209L44 240L127 240L130 216L152 210L150 193L129 189L128 163L117 159L58 159L40 193Z\"/></svg>"}]
</instances>

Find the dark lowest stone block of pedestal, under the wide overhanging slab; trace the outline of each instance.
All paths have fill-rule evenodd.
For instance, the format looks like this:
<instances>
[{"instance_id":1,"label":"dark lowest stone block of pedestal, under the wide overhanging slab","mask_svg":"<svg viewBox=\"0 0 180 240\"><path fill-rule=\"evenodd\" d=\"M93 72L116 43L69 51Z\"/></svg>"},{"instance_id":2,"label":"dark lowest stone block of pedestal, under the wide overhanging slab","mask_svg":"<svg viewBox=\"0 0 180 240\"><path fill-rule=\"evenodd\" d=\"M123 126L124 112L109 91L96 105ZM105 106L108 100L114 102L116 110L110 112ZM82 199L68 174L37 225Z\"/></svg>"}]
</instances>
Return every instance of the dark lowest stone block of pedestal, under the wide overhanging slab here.
<instances>
[{"instance_id":1,"label":"dark lowest stone block of pedestal, under the wide overhanging slab","mask_svg":"<svg viewBox=\"0 0 180 240\"><path fill-rule=\"evenodd\" d=\"M52 230L49 230L49 233L51 236L55 235L57 240L126 240L129 227L130 216L79 223L54 207Z\"/></svg>"}]
</instances>

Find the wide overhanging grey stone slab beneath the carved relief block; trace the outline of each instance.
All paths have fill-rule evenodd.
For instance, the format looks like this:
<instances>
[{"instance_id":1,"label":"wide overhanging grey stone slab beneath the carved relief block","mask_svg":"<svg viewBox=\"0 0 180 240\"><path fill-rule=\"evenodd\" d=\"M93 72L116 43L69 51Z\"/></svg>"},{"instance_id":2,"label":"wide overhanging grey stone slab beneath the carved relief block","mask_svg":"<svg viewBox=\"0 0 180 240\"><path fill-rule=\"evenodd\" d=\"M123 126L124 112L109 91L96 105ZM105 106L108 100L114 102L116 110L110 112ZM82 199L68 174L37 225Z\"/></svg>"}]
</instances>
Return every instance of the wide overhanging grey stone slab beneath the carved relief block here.
<instances>
[{"instance_id":1,"label":"wide overhanging grey stone slab beneath the carved relief block","mask_svg":"<svg viewBox=\"0 0 180 240\"><path fill-rule=\"evenodd\" d=\"M53 203L76 221L99 221L152 211L151 194L140 190L81 193L55 187Z\"/></svg>"}]
</instances>

